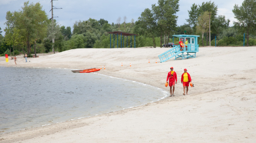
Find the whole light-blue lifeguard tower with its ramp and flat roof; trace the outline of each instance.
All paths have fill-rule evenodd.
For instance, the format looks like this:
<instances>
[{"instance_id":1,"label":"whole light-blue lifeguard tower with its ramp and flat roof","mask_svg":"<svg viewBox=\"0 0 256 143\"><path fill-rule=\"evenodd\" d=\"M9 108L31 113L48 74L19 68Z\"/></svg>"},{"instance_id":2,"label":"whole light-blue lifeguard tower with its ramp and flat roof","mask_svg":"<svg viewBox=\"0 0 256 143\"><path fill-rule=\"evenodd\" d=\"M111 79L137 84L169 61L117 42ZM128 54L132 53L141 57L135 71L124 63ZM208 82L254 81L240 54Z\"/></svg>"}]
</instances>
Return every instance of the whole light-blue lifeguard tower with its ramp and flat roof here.
<instances>
[{"instance_id":1,"label":"whole light-blue lifeguard tower with its ramp and flat roof","mask_svg":"<svg viewBox=\"0 0 256 143\"><path fill-rule=\"evenodd\" d=\"M170 58L175 57L175 59L185 59L185 58L196 58L196 52L198 52L199 45L197 44L197 37L199 35L173 35L178 37L179 41L182 41L185 44L185 41L188 41L187 45L184 45L184 48L181 48L180 45L175 45L175 47L164 52L163 54L158 55L161 62L165 62ZM186 47L187 46L187 47Z\"/></svg>"}]
</instances>

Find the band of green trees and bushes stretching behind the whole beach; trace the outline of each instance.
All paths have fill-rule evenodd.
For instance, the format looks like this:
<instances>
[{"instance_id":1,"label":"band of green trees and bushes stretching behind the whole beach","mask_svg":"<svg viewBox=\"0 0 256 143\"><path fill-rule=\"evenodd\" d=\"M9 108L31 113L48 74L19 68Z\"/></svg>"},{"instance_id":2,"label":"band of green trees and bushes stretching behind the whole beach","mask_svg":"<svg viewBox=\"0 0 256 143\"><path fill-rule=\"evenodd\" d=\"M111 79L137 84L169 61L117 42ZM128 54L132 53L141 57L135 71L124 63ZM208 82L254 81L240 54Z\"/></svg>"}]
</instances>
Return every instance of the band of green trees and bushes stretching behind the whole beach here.
<instances>
[{"instance_id":1,"label":"band of green trees and bushes stretching behind the whole beach","mask_svg":"<svg viewBox=\"0 0 256 143\"><path fill-rule=\"evenodd\" d=\"M211 1L194 3L188 10L188 24L177 26L179 6L179 0L158 0L157 4L142 11L137 21L132 19L127 22L124 16L109 24L103 18L89 18L76 21L71 31L71 27L60 26L56 20L50 21L40 3L29 4L27 1L21 10L7 11L4 36L0 27L0 54L14 56L27 53L31 56L38 52L61 52L75 48L110 48L110 39L112 44L115 42L111 47L116 48L121 45L120 38L125 38L122 44L132 47L134 42L136 47L162 47L168 42L178 43L178 38L172 36L174 34L200 35L200 46L243 46L245 33L246 46L256 45L256 0L244 0L242 6L234 5L232 12L237 21L232 27L224 15L217 16L218 7ZM113 31L138 36L135 39L118 35L117 41L115 35L114 41L113 35L108 34Z\"/></svg>"}]
</instances>

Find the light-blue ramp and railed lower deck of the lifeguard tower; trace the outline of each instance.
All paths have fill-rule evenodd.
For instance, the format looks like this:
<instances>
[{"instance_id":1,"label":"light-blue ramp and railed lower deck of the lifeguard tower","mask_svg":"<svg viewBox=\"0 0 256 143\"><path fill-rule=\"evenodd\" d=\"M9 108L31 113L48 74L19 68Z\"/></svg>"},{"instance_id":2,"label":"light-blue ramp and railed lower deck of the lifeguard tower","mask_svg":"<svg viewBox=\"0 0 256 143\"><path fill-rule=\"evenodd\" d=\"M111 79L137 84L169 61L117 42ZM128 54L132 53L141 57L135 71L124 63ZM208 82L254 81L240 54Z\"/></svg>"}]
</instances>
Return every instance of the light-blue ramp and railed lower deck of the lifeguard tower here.
<instances>
[{"instance_id":1,"label":"light-blue ramp and railed lower deck of the lifeguard tower","mask_svg":"<svg viewBox=\"0 0 256 143\"><path fill-rule=\"evenodd\" d=\"M175 45L175 47L171 48L170 50L164 52L163 54L158 55L160 62L165 62L170 58L175 57L177 58L196 58L196 52L198 52L199 45L187 45L187 48L183 48L180 51L180 45Z\"/></svg>"}]
</instances>

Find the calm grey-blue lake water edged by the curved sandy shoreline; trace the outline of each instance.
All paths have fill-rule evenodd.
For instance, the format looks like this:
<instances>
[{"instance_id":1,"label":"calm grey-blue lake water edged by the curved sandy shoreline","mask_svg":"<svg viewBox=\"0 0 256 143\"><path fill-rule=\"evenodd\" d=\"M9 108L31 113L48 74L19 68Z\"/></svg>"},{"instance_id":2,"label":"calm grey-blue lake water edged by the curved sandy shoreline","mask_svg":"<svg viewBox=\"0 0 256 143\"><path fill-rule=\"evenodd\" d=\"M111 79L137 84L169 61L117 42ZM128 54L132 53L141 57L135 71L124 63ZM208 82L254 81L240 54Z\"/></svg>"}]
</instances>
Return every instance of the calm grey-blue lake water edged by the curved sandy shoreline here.
<instances>
[{"instance_id":1,"label":"calm grey-blue lake water edged by the curved sandy shoreline","mask_svg":"<svg viewBox=\"0 0 256 143\"><path fill-rule=\"evenodd\" d=\"M167 97L154 86L71 69L0 66L0 134L86 118Z\"/></svg>"}]
</instances>

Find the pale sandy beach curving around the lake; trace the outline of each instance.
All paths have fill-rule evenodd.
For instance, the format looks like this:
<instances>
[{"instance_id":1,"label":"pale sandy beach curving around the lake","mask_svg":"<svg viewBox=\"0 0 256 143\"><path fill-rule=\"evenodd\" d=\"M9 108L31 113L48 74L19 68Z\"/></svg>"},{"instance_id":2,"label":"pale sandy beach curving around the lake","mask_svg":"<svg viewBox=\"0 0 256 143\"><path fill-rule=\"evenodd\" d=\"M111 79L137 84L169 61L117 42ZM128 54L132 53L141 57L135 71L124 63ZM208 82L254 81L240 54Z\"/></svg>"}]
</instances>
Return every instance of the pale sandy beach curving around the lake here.
<instances>
[{"instance_id":1,"label":"pale sandy beach curving around the lake","mask_svg":"<svg viewBox=\"0 0 256 143\"><path fill-rule=\"evenodd\" d=\"M160 63L158 55L169 49L73 49L38 54L39 58L28 58L28 62L19 55L17 65L10 58L6 62L5 57L0 57L0 66L9 67L102 66L97 73L166 91L170 91L164 86L170 67L174 67L178 78L173 97L117 112L1 134L0 142L255 142L256 47L200 47L196 58L172 58ZM185 96L181 84L184 68L194 84Z\"/></svg>"}]
</instances>

